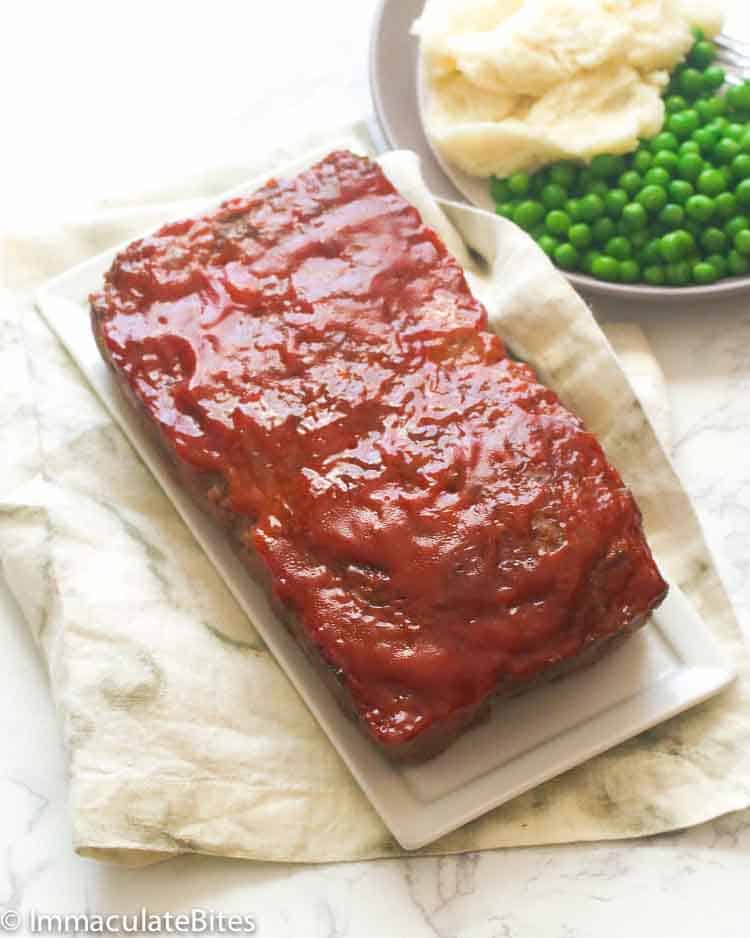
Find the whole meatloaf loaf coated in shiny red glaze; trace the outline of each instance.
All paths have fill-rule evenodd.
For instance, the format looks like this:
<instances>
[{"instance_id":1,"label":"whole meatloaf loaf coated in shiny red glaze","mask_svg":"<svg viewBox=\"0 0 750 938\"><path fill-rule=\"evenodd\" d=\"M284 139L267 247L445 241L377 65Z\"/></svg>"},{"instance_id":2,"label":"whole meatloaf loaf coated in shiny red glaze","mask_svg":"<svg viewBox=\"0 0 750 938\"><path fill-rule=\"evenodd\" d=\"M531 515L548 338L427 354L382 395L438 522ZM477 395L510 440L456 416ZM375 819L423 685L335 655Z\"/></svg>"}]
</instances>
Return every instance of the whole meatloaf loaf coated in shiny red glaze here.
<instances>
[{"instance_id":1,"label":"whole meatloaf loaf coated in shiny red glaze","mask_svg":"<svg viewBox=\"0 0 750 938\"><path fill-rule=\"evenodd\" d=\"M366 158L136 241L91 310L183 483L390 756L434 754L665 595L596 439Z\"/></svg>"}]
</instances>

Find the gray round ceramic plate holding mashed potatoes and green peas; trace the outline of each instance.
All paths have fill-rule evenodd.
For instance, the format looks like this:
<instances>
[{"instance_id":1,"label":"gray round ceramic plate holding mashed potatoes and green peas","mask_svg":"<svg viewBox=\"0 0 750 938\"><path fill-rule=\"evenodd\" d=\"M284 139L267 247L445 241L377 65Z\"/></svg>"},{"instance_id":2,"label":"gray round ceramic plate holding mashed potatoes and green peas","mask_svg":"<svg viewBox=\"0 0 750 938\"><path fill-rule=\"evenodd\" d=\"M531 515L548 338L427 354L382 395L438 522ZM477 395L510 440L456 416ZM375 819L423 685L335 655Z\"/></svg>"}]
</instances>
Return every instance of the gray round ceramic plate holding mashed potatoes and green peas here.
<instances>
[{"instance_id":1,"label":"gray round ceramic plate holding mashed potatoes and green peas","mask_svg":"<svg viewBox=\"0 0 750 938\"><path fill-rule=\"evenodd\" d=\"M381 0L373 24L370 47L370 89L375 113L389 147L414 150L432 191L490 208L487 186L444 164L432 150L420 116L417 88L417 40L409 34L424 0ZM666 302L705 302L750 291L750 277L731 277L706 287L650 287L607 283L585 274L567 274L576 287L618 299Z\"/></svg>"}]
</instances>

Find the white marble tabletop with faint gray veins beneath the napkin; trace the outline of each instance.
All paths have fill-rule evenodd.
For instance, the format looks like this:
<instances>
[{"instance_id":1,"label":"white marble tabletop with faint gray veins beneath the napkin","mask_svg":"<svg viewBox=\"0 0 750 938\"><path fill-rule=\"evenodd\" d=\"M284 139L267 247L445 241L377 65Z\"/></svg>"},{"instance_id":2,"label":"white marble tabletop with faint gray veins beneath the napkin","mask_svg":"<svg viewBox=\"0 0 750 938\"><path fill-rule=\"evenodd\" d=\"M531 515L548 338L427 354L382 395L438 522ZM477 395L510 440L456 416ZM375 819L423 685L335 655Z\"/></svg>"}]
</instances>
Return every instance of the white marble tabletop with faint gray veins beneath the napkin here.
<instances>
[{"instance_id":1,"label":"white marble tabletop with faint gray veins beneath the napkin","mask_svg":"<svg viewBox=\"0 0 750 938\"><path fill-rule=\"evenodd\" d=\"M374 6L3 5L0 79L16 93L3 97L0 118L22 145L2 157L0 224L80 213L217 161L240 163L258 134L288 138L365 113ZM160 52L165 30L175 40ZM41 68L29 67L30 49ZM144 99L153 76L169 93ZM210 125L200 120L209 113ZM634 319L653 344L672 398L677 468L750 631L750 297L712 308L595 308ZM203 907L252 914L258 934L273 938L750 933L750 811L644 841L441 860L304 867L186 857L133 872L79 859L44 673L5 591L0 620L0 909Z\"/></svg>"}]
</instances>

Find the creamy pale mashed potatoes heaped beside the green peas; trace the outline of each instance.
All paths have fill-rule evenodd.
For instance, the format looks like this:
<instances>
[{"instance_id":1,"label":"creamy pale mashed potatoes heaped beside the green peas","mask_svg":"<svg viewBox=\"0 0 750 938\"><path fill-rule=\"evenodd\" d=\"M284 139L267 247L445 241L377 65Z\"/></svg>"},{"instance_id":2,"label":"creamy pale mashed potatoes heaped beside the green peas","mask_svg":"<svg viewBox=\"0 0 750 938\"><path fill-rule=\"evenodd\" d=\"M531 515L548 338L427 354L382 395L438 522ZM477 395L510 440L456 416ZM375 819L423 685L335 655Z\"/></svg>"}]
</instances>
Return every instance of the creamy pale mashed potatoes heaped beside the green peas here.
<instances>
[{"instance_id":1,"label":"creamy pale mashed potatoes heaped beside the green peas","mask_svg":"<svg viewBox=\"0 0 750 938\"><path fill-rule=\"evenodd\" d=\"M472 176L625 153L659 132L669 71L711 0L427 0L425 124Z\"/></svg>"}]
</instances>

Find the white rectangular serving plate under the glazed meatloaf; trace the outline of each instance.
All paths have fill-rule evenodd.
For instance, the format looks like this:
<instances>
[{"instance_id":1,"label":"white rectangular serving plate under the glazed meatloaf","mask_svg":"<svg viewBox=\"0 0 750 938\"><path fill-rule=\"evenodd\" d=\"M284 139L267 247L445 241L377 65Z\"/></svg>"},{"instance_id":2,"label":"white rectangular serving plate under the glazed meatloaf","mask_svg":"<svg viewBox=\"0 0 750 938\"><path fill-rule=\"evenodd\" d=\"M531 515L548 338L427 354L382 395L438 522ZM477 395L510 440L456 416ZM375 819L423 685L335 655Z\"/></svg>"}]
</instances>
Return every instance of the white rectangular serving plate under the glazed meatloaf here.
<instances>
[{"instance_id":1,"label":"white rectangular serving plate under the glazed meatloaf","mask_svg":"<svg viewBox=\"0 0 750 938\"><path fill-rule=\"evenodd\" d=\"M297 171L290 166L287 171ZM232 191L252 191L252 181ZM211 208L221 199L207 204ZM650 624L591 668L493 707L447 752L419 765L391 764L338 707L227 538L175 483L114 385L89 327L88 294L116 250L47 284L37 303L136 451L172 499L402 847L436 840L516 795L648 729L725 687L734 677L710 631L680 591Z\"/></svg>"}]
</instances>

